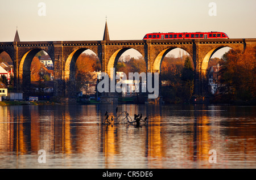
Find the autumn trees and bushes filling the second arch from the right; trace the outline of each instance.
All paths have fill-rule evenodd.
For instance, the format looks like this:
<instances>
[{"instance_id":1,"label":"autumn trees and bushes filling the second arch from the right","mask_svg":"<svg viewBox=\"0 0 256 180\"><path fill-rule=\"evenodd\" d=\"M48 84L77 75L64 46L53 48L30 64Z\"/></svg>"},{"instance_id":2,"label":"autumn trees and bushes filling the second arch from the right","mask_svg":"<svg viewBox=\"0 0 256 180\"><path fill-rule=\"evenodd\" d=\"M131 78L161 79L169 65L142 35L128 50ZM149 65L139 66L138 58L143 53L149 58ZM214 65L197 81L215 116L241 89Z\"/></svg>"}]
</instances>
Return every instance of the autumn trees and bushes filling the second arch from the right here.
<instances>
[{"instance_id":1,"label":"autumn trees and bushes filling the second arch from the right","mask_svg":"<svg viewBox=\"0 0 256 180\"><path fill-rule=\"evenodd\" d=\"M165 57L161 66L161 81L161 95L165 103L188 103L195 85L191 57Z\"/></svg>"}]
</instances>

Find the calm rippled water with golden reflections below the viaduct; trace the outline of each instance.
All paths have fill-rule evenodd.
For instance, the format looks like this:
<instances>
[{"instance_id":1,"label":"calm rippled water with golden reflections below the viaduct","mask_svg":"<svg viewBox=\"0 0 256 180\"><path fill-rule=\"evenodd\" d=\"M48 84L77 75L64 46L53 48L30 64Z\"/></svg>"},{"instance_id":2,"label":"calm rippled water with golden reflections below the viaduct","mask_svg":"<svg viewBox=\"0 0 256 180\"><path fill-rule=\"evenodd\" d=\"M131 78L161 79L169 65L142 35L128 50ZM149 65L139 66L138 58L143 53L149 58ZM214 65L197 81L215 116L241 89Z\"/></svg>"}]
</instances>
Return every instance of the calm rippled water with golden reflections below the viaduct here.
<instances>
[{"instance_id":1,"label":"calm rippled water with golden reflections below the viaduct","mask_svg":"<svg viewBox=\"0 0 256 180\"><path fill-rule=\"evenodd\" d=\"M101 125L115 108L0 106L0 168L256 168L255 106L118 105L148 123Z\"/></svg>"}]
</instances>

